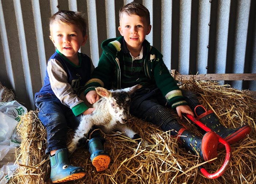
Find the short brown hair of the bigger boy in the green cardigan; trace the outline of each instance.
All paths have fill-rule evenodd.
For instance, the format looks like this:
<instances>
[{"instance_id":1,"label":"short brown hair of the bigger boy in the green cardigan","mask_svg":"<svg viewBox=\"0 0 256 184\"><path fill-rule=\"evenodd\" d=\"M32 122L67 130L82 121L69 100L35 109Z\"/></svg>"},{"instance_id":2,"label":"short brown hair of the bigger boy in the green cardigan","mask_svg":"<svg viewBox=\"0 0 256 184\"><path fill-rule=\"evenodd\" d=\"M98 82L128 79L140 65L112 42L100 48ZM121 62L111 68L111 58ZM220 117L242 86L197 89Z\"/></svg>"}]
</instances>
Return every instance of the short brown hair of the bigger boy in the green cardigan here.
<instances>
[{"instance_id":1,"label":"short brown hair of the bigger boy in the green cardigan","mask_svg":"<svg viewBox=\"0 0 256 184\"><path fill-rule=\"evenodd\" d=\"M133 1L132 3L129 3L123 6L119 10L119 21L123 13L127 13L127 15L138 15L140 17L145 17L148 23L148 26L150 25L150 13L148 9L140 3L136 3Z\"/></svg>"}]
</instances>

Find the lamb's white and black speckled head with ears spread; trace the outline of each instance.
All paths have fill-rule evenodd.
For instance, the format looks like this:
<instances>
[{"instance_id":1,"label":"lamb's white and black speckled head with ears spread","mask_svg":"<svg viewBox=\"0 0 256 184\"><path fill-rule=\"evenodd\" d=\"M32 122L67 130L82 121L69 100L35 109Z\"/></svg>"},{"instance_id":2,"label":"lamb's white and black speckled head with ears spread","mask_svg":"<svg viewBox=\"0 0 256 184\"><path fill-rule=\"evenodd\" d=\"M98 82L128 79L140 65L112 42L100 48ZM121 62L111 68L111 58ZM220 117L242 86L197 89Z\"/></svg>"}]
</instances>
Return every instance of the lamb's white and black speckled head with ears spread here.
<instances>
[{"instance_id":1,"label":"lamb's white and black speckled head with ears spread","mask_svg":"<svg viewBox=\"0 0 256 184\"><path fill-rule=\"evenodd\" d=\"M103 87L96 87L95 90L101 97L106 98L109 113L120 123L125 124L130 114L130 95L141 87L142 85L135 85L125 89L110 91Z\"/></svg>"}]
</instances>

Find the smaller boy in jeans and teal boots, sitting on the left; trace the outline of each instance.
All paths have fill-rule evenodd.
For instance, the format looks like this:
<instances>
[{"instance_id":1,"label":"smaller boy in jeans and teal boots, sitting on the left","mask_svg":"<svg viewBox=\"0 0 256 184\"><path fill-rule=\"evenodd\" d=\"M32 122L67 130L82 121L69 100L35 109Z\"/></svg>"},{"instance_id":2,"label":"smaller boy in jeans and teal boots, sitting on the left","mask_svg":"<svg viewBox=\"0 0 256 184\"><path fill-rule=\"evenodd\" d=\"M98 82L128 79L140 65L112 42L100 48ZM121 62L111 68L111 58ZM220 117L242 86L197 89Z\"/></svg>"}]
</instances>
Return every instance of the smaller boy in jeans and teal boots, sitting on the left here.
<instances>
[{"instance_id":1,"label":"smaller boy in jeans and teal boots, sitting on the left","mask_svg":"<svg viewBox=\"0 0 256 184\"><path fill-rule=\"evenodd\" d=\"M86 174L84 168L69 163L66 145L68 127L76 129L80 115L94 110L79 98L94 69L89 56L78 52L88 38L86 28L80 12L59 11L50 18L50 39L57 50L48 60L44 86L35 94L35 105L47 131L45 152L50 154L53 183L79 179ZM110 157L97 132L87 146L97 171L108 168Z\"/></svg>"}]
</instances>

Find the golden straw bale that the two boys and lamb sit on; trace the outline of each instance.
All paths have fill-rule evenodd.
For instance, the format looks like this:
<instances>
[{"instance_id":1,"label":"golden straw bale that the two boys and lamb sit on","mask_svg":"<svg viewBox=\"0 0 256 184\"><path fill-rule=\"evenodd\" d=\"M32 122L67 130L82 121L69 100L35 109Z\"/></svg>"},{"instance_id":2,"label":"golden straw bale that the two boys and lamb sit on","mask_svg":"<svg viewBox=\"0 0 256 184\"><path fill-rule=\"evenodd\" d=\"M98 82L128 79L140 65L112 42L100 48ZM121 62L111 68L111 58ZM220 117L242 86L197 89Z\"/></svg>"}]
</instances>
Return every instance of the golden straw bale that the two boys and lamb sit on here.
<instances>
[{"instance_id":1,"label":"golden straw bale that the two boys and lamb sit on","mask_svg":"<svg viewBox=\"0 0 256 184\"><path fill-rule=\"evenodd\" d=\"M183 89L195 91L207 110L214 110L222 124L228 128L241 125L252 126L251 134L244 140L231 145L232 157L226 172L217 179L207 179L199 166L210 173L216 172L225 160L225 150L220 150L213 164L203 163L196 155L179 146L170 132L163 132L157 126L132 117L129 124L143 138L143 144L119 132L104 134L105 149L112 160L109 168L97 172L90 161L85 148L78 149L70 158L74 165L82 166L87 174L82 179L66 184L253 184L256 182L256 99L246 91L232 89L228 85L219 85L214 81L186 81L180 85ZM174 116L177 114L170 110ZM179 120L198 135L202 135L196 126L185 117ZM47 184L49 180L49 157L45 155L46 133L37 118L36 111L30 111L19 126L22 135L20 146L20 167L10 183ZM70 140L73 132L68 132ZM146 144L144 144L147 142Z\"/></svg>"}]
</instances>

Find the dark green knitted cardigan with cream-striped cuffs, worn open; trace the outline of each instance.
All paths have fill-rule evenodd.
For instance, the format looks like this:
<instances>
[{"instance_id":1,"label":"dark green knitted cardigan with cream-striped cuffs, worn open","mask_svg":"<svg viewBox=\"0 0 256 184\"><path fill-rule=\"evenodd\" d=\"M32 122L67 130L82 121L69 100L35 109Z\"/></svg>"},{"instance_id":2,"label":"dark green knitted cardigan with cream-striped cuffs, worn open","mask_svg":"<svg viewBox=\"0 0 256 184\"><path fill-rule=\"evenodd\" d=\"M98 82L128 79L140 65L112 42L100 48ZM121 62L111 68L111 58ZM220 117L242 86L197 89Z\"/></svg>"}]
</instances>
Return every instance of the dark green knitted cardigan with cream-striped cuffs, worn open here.
<instances>
[{"instance_id":1,"label":"dark green knitted cardigan with cream-striped cuffs, worn open","mask_svg":"<svg viewBox=\"0 0 256 184\"><path fill-rule=\"evenodd\" d=\"M144 44L146 48L143 49L147 51L144 60L144 71L147 78L155 82L172 108L179 105L187 105L176 81L174 81L163 63L162 54L155 47L150 46L147 40L144 40L144 42L146 42ZM91 75L91 79L86 83L84 94L87 94L90 90L95 90L95 87L98 86L105 87L106 89L120 89L120 63L123 62L122 44L123 36L102 42L103 53L99 58L98 66Z\"/></svg>"}]
</instances>

